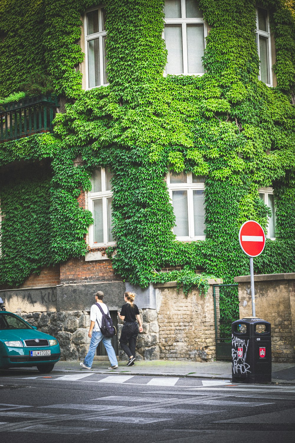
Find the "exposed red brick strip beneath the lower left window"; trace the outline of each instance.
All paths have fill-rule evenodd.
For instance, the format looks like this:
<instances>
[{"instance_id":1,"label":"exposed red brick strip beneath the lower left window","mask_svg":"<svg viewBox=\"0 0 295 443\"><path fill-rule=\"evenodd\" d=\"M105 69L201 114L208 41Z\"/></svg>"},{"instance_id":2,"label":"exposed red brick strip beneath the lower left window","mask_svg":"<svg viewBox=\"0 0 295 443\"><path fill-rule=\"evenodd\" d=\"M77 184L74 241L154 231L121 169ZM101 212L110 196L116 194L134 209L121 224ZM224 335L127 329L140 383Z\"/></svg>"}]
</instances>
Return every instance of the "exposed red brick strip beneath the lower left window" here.
<instances>
[{"instance_id":1,"label":"exposed red brick strip beneath the lower left window","mask_svg":"<svg viewBox=\"0 0 295 443\"><path fill-rule=\"evenodd\" d=\"M61 284L96 281L122 281L122 279L115 274L109 259L85 261L84 257L80 257L61 264Z\"/></svg>"}]
</instances>

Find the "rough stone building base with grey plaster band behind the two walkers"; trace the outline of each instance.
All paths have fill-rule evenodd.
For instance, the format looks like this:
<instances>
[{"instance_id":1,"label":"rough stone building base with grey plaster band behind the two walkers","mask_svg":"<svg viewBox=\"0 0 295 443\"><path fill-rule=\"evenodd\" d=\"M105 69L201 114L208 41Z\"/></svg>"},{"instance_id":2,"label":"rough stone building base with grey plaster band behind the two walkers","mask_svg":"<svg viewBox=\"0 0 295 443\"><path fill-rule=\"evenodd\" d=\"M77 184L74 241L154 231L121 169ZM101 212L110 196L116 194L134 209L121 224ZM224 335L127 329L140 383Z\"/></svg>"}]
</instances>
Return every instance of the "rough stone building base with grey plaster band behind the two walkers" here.
<instances>
[{"instance_id":1,"label":"rough stone building base with grey plaster band behind the two walkers","mask_svg":"<svg viewBox=\"0 0 295 443\"><path fill-rule=\"evenodd\" d=\"M146 289L133 287L128 282L70 284L50 288L26 288L1 291L7 311L15 312L38 330L53 335L61 346L61 359L83 359L90 338L90 308L95 303L94 293L103 291L103 301L110 311L117 311L124 302L125 291L136 291L135 303L142 317L143 333L138 336L139 359L154 360L160 356L159 327L157 324L156 295L153 285ZM123 323L119 324L118 339ZM122 350L119 356L126 355Z\"/></svg>"}]
</instances>

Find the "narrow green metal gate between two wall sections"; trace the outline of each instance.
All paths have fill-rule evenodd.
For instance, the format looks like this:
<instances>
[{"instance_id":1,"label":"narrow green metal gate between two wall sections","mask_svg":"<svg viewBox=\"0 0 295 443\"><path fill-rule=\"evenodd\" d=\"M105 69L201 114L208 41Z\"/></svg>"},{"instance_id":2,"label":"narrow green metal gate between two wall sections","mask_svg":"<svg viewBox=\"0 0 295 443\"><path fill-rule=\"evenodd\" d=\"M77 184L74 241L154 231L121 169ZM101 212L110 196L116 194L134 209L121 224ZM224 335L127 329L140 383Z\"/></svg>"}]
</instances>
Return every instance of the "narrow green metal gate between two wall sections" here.
<instances>
[{"instance_id":1,"label":"narrow green metal gate between two wall sections","mask_svg":"<svg viewBox=\"0 0 295 443\"><path fill-rule=\"evenodd\" d=\"M238 284L213 285L216 360L231 360L231 323L239 318Z\"/></svg>"}]
</instances>

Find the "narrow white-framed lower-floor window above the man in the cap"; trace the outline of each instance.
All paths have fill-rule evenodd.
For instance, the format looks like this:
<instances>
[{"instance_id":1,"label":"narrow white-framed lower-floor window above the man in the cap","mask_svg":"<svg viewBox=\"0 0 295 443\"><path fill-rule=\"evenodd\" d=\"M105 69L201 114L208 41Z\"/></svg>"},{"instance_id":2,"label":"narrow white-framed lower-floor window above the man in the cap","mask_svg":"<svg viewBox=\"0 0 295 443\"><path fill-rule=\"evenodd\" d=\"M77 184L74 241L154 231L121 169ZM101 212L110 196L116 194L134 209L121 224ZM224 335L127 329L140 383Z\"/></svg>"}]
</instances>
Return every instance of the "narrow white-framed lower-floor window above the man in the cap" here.
<instances>
[{"instance_id":1,"label":"narrow white-framed lower-floor window above the man in the cap","mask_svg":"<svg viewBox=\"0 0 295 443\"><path fill-rule=\"evenodd\" d=\"M88 209L92 212L93 224L89 226L91 248L115 245L112 235L111 190L112 174L108 168L98 167L92 173L91 191L88 193Z\"/></svg>"}]
</instances>

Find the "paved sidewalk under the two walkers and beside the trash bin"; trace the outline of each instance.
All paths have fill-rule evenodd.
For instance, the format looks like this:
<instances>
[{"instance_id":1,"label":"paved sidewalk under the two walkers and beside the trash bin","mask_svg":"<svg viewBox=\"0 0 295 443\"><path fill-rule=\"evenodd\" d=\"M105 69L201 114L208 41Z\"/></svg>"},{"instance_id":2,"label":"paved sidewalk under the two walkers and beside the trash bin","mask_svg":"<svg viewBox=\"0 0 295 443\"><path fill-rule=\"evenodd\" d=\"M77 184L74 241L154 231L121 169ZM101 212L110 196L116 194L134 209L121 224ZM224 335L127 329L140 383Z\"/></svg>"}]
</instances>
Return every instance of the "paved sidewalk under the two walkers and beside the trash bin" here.
<instances>
[{"instance_id":1,"label":"paved sidewalk under the two walkers and beside the trash bin","mask_svg":"<svg viewBox=\"0 0 295 443\"><path fill-rule=\"evenodd\" d=\"M109 361L94 360L91 369L82 369L79 361L59 361L54 366L54 372L83 371L93 373L119 373L125 375L167 376L167 377L197 377L231 380L231 362L152 360L135 361L134 366L126 366L126 361L119 361L119 368L107 369ZM272 363L272 382L295 385L295 363Z\"/></svg>"}]
</instances>

